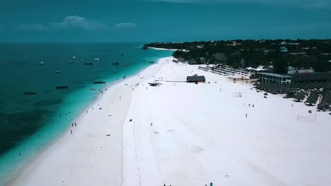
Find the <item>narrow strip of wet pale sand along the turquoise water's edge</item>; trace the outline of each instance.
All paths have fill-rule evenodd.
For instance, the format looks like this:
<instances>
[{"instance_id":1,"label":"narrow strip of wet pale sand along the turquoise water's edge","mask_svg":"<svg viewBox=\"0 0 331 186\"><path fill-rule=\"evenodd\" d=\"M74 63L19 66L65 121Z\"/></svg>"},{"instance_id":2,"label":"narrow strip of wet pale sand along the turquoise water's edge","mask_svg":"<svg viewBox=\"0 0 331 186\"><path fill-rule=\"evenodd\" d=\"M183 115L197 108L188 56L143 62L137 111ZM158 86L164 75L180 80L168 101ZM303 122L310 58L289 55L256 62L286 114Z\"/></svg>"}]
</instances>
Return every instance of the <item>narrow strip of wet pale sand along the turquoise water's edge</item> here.
<instances>
[{"instance_id":1,"label":"narrow strip of wet pale sand along the turquoise water's edge","mask_svg":"<svg viewBox=\"0 0 331 186\"><path fill-rule=\"evenodd\" d=\"M170 58L170 57L165 57L165 58ZM88 104L84 109L81 109L82 111L78 114L78 116L74 117L71 120L71 122L72 123L81 122L81 120L83 120L83 118L84 118L85 111L91 109L91 107L95 106L98 102L105 99L105 97L108 97L109 96L107 94L108 91L114 91L112 89L115 89L116 87L119 87L120 85L123 85L124 82L126 82L126 81L131 81L134 77L137 77L137 75L139 75L140 73L144 73L145 70L149 70L149 68L151 68L153 66L159 66L160 61L163 61L163 60L164 60L164 58L158 58L157 63L146 66L145 68L141 68L141 69L139 69L139 71L137 73L134 73L133 75L129 75L129 76L125 77L124 79L115 80L114 82L111 82L109 85L103 87L104 93L101 94L99 92L99 94L93 100L91 100L91 103ZM107 89L107 91L105 91L105 89ZM5 185L14 184L14 182L16 182L16 180L18 180L21 177L21 174L28 172L27 171L27 170L29 170L28 167L32 166L36 161L40 161L40 157L44 156L43 154L47 153L47 151L52 151L52 148L54 148L54 146L58 146L57 144L59 144L60 141L63 141L63 139L65 137L67 137L68 131L70 132L70 128L71 128L71 126L69 126L69 123L68 123L68 127L64 128L64 130L62 130L62 132L59 135L57 135L57 137L55 137L54 140L52 140L52 142L50 142L50 144L47 144L46 147L43 147L40 151L38 151L38 153L35 156L28 159L28 161L26 161L21 168L17 168L16 170L14 170L13 173L11 174L11 179L8 180L7 182L5 182ZM20 184L18 184L18 185L20 185Z\"/></svg>"}]
</instances>

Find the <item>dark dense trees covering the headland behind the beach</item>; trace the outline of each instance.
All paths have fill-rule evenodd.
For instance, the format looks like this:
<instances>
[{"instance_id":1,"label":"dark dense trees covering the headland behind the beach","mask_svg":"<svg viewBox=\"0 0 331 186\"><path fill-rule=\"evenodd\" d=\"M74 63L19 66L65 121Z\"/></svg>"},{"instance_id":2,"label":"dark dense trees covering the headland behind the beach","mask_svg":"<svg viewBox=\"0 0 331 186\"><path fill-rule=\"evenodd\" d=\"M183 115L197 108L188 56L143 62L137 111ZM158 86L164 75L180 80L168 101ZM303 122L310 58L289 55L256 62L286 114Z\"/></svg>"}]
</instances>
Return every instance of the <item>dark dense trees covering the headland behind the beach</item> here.
<instances>
[{"instance_id":1,"label":"dark dense trees covering the headland behind the beach","mask_svg":"<svg viewBox=\"0 0 331 186\"><path fill-rule=\"evenodd\" d=\"M148 47L178 49L173 54L175 58L197 64L222 62L235 68L273 66L274 73L286 73L289 66L313 68L317 72L331 70L331 39L168 42L143 46L144 49ZM216 53L223 53L226 59L217 61Z\"/></svg>"}]
</instances>

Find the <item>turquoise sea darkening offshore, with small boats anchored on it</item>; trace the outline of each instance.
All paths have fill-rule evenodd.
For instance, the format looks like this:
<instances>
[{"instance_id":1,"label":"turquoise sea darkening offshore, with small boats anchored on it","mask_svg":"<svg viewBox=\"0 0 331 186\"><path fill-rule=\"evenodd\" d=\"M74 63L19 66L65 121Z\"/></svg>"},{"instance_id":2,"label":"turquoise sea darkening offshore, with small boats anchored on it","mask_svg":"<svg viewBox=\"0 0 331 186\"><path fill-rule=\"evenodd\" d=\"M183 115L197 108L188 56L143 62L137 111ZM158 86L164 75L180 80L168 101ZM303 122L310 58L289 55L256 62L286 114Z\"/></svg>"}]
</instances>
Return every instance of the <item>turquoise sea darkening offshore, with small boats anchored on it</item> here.
<instances>
[{"instance_id":1,"label":"turquoise sea darkening offshore, with small boats anchored on it","mask_svg":"<svg viewBox=\"0 0 331 186\"><path fill-rule=\"evenodd\" d=\"M173 53L141 50L141 45L0 44L0 185L59 136L95 99L98 89ZM40 61L45 65L38 65ZM93 66L85 65L89 62ZM114 62L120 65L112 65ZM54 73L57 69L62 73ZM94 80L107 83L95 85ZM59 85L69 89L55 89ZM25 91L37 94L25 95Z\"/></svg>"}]
</instances>

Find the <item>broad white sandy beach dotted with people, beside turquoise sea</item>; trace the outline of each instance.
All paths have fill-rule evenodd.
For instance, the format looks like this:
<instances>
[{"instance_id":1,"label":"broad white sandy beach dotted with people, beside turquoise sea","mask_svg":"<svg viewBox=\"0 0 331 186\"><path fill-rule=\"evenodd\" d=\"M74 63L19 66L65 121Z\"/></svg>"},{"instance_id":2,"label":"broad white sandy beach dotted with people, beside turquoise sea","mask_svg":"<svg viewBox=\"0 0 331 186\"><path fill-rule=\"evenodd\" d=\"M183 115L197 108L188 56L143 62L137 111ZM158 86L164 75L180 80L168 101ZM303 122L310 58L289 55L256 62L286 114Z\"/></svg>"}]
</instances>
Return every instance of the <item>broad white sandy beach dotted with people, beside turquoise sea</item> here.
<instances>
[{"instance_id":1,"label":"broad white sandy beach dotted with people, beside turquoise sea","mask_svg":"<svg viewBox=\"0 0 331 186\"><path fill-rule=\"evenodd\" d=\"M172 59L108 88L9 185L330 185L329 114L297 121L315 107ZM210 83L167 82L194 74Z\"/></svg>"}]
</instances>

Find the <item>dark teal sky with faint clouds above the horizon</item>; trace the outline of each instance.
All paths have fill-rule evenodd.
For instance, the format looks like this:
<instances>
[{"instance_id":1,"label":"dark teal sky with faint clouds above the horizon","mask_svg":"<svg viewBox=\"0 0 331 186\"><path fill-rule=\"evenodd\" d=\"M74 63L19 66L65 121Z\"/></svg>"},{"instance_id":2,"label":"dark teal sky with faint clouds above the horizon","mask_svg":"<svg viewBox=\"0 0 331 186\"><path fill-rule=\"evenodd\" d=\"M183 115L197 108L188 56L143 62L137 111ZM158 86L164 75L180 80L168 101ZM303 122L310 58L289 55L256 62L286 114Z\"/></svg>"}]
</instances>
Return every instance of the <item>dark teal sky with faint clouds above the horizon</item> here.
<instances>
[{"instance_id":1,"label":"dark teal sky with faint clouds above the horizon","mask_svg":"<svg viewBox=\"0 0 331 186\"><path fill-rule=\"evenodd\" d=\"M1 0L0 42L331 38L331 0Z\"/></svg>"}]
</instances>

